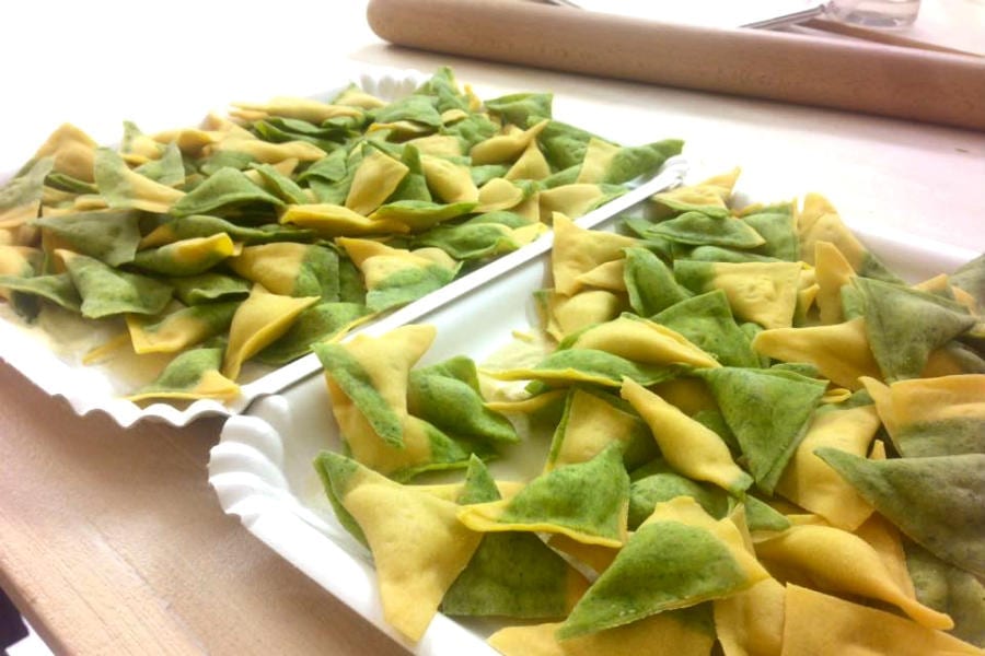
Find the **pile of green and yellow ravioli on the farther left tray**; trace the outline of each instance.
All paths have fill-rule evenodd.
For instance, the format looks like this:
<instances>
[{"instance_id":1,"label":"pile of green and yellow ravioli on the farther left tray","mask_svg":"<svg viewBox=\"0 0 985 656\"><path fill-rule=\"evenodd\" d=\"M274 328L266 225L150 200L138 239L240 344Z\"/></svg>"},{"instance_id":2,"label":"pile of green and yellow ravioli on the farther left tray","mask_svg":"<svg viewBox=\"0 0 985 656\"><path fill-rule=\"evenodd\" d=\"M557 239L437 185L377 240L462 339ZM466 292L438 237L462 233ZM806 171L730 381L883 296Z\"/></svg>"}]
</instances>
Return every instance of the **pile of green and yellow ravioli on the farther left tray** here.
<instances>
[{"instance_id":1,"label":"pile of green and yellow ravioli on the farther left tray","mask_svg":"<svg viewBox=\"0 0 985 656\"><path fill-rule=\"evenodd\" d=\"M681 152L488 101L439 69L386 102L235 104L118 147L65 125L0 188L0 297L117 335L84 362L162 362L129 398L228 399L279 366L623 194ZM56 319L58 320L58 319Z\"/></svg>"}]
</instances>

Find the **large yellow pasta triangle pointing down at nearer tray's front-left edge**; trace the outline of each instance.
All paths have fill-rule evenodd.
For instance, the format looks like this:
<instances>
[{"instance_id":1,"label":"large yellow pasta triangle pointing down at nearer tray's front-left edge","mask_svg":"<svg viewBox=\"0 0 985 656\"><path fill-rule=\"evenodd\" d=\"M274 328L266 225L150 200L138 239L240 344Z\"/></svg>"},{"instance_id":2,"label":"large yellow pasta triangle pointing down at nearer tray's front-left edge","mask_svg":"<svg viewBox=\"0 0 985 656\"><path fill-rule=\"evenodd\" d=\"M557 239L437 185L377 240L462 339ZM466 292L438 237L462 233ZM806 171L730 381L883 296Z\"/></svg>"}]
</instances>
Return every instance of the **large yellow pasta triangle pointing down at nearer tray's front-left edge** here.
<instances>
[{"instance_id":1,"label":"large yellow pasta triangle pointing down at nearer tray's front-left edge","mask_svg":"<svg viewBox=\"0 0 985 656\"><path fill-rule=\"evenodd\" d=\"M372 551L384 619L419 641L482 534L457 520L453 502L396 483L345 456L324 452L320 462Z\"/></svg>"}]
</instances>

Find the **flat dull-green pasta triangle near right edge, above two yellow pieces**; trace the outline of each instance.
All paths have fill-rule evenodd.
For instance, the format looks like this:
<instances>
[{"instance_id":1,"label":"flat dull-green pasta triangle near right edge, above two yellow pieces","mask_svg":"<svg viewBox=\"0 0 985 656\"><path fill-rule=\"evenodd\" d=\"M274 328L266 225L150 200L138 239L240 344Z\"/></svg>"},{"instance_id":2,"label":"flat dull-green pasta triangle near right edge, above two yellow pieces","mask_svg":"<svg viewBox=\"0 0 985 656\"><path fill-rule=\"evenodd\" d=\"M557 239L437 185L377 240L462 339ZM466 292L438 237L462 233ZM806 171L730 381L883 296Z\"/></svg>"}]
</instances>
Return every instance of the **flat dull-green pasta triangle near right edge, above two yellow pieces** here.
<instances>
[{"instance_id":1,"label":"flat dull-green pasta triangle near right edge, above two yellow pieces","mask_svg":"<svg viewBox=\"0 0 985 656\"><path fill-rule=\"evenodd\" d=\"M888 383L918 377L931 351L975 325L963 306L941 296L867 278L856 278L855 288L865 302L869 347Z\"/></svg>"}]
</instances>

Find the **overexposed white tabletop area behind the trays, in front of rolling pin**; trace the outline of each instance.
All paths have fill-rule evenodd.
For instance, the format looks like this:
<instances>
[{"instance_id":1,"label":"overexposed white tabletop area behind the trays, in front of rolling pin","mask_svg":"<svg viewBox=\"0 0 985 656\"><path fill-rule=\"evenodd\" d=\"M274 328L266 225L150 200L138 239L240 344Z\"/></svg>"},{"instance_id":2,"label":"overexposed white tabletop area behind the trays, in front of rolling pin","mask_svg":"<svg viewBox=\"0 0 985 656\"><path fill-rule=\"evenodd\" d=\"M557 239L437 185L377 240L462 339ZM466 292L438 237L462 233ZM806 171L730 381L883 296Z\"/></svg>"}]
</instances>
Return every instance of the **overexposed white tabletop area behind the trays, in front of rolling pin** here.
<instances>
[{"instance_id":1,"label":"overexposed white tabletop area behind the trays, in front of rolling pin","mask_svg":"<svg viewBox=\"0 0 985 656\"><path fill-rule=\"evenodd\" d=\"M112 142L125 119L152 131L231 101L317 93L339 71L450 65L480 94L551 90L559 117L626 143L683 138L699 169L741 165L772 199L821 191L854 225L985 250L983 133L394 48L364 7L174 0L138 16L124 2L25 3L0 39L0 171L62 121Z\"/></svg>"}]
</instances>

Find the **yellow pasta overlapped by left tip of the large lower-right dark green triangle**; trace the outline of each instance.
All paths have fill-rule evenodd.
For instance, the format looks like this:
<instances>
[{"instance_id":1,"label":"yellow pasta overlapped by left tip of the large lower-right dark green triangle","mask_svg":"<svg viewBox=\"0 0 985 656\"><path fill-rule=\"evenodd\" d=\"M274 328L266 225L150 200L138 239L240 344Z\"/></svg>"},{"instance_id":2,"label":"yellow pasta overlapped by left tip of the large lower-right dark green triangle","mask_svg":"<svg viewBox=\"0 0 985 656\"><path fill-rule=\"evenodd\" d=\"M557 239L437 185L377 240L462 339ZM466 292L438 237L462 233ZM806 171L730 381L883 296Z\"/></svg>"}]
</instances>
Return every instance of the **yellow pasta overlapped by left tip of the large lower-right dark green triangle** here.
<instances>
[{"instance_id":1,"label":"yellow pasta overlapped by left tip of the large lower-right dark green triangle","mask_svg":"<svg viewBox=\"0 0 985 656\"><path fill-rule=\"evenodd\" d=\"M864 457L869 453L879 423L873 406L815 413L807 435L780 475L776 491L834 526L855 530L873 508L855 488L815 456L814 449L832 446Z\"/></svg>"}]
</instances>

